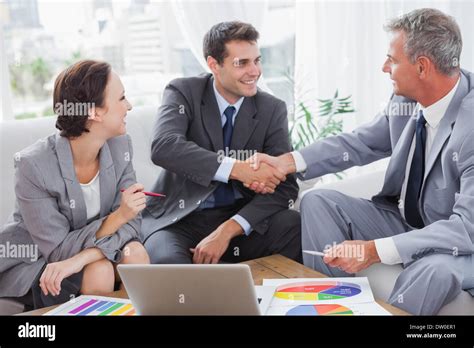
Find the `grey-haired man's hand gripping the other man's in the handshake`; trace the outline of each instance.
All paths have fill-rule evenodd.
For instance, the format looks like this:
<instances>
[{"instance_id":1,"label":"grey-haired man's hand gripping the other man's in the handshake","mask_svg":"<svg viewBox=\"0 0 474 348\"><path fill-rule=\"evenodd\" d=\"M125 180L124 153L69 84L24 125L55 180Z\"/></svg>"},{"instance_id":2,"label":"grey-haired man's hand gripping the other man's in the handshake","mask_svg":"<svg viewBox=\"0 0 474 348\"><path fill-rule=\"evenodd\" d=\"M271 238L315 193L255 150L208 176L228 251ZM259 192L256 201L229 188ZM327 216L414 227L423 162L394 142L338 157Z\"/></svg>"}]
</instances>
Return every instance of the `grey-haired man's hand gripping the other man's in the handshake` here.
<instances>
[{"instance_id":1,"label":"grey-haired man's hand gripping the other man's in the handshake","mask_svg":"<svg viewBox=\"0 0 474 348\"><path fill-rule=\"evenodd\" d=\"M265 153L256 153L248 159L248 162L254 170L259 170L262 165L268 164L285 176L296 172L295 160L291 153L285 153L278 157L270 156ZM269 193L268 187L259 181L254 181L250 185L244 183L244 186L257 193Z\"/></svg>"}]
</instances>

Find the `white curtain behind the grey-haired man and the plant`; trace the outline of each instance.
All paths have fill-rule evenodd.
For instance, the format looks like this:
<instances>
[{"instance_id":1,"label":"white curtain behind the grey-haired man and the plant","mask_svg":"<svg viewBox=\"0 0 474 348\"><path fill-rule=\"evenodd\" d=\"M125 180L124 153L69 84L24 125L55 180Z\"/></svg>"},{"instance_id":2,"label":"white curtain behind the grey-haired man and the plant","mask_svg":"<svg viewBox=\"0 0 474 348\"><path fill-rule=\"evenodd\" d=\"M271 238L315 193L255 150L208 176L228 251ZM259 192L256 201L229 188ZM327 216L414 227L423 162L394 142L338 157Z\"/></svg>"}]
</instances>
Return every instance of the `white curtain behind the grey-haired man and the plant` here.
<instances>
[{"instance_id":1,"label":"white curtain behind the grey-haired man and the plant","mask_svg":"<svg viewBox=\"0 0 474 348\"><path fill-rule=\"evenodd\" d=\"M474 3L465 1L298 1L296 0L295 98L316 110L317 98L352 95L356 113L344 117L347 131L374 118L392 93L382 72L388 49L383 25L415 8L434 7L454 16L464 48L461 66L474 69ZM312 102L311 102L312 101ZM381 169L382 161L362 170Z\"/></svg>"}]
</instances>

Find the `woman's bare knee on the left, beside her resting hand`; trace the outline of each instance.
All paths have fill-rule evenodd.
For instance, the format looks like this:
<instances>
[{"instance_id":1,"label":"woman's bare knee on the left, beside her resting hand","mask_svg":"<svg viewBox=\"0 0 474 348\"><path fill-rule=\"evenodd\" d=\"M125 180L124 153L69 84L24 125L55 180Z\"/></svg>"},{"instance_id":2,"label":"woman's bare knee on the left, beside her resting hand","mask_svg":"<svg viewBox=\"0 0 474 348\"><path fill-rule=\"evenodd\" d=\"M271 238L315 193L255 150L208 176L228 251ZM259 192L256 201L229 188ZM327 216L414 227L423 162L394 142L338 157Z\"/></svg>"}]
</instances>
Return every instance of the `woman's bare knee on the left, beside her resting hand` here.
<instances>
[{"instance_id":1,"label":"woman's bare knee on the left, beside her resting hand","mask_svg":"<svg viewBox=\"0 0 474 348\"><path fill-rule=\"evenodd\" d=\"M107 259L92 262L84 267L81 294L105 295L114 291L114 267Z\"/></svg>"}]
</instances>

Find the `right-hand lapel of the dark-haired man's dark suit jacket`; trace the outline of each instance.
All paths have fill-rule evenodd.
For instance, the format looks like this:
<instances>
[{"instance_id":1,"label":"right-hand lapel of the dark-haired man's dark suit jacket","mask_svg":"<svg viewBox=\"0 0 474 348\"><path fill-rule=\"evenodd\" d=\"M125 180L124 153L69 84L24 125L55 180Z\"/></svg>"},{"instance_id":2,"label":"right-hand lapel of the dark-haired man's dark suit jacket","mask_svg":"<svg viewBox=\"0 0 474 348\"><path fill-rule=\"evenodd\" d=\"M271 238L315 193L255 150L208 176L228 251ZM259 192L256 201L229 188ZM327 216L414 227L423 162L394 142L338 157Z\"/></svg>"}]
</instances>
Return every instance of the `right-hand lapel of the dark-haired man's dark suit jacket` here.
<instances>
[{"instance_id":1,"label":"right-hand lapel of the dark-haired man's dark suit jacket","mask_svg":"<svg viewBox=\"0 0 474 348\"><path fill-rule=\"evenodd\" d=\"M239 113L235 118L234 132L230 143L231 149L245 148L258 123L258 120L254 118L256 114L255 98L244 98Z\"/></svg>"}]
</instances>

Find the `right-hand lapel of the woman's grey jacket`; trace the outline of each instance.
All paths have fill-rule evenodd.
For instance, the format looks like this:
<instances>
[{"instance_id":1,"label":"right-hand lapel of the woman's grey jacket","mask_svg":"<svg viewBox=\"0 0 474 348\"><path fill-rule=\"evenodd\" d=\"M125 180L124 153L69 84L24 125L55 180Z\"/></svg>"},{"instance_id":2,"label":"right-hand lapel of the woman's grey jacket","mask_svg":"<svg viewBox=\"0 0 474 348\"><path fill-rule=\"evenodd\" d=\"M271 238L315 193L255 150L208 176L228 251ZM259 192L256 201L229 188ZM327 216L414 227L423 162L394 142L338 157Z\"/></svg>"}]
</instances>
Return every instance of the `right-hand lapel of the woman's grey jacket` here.
<instances>
[{"instance_id":1,"label":"right-hand lapel of the woman's grey jacket","mask_svg":"<svg viewBox=\"0 0 474 348\"><path fill-rule=\"evenodd\" d=\"M117 190L126 189L127 187L117 187L114 161L107 142L100 149L99 156L100 217L104 217L112 210Z\"/></svg>"}]
</instances>

